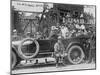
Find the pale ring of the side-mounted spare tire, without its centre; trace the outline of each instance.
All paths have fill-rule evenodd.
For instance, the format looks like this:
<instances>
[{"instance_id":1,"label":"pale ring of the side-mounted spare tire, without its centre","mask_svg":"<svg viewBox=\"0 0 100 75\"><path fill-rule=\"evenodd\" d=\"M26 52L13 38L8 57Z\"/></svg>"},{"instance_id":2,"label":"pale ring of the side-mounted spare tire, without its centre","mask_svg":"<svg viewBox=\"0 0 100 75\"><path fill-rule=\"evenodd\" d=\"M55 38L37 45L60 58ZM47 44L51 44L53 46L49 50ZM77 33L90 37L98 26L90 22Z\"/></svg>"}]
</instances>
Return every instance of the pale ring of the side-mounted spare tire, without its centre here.
<instances>
[{"instance_id":1,"label":"pale ring of the side-mounted spare tire, without its centre","mask_svg":"<svg viewBox=\"0 0 100 75\"><path fill-rule=\"evenodd\" d=\"M34 43L36 44L36 48L37 48L37 49L36 49L36 52L35 52L32 56L25 56L25 55L22 53L22 51L21 51L22 44L23 44L26 40L32 40L32 41L34 41ZM20 45L18 46L18 52L19 52L19 55L21 56L22 59L31 59L31 58L35 57L35 56L38 54L38 52L39 52L39 43L38 43L36 40L34 40L33 38L25 38L25 39L23 39L23 40L21 41Z\"/></svg>"}]
</instances>

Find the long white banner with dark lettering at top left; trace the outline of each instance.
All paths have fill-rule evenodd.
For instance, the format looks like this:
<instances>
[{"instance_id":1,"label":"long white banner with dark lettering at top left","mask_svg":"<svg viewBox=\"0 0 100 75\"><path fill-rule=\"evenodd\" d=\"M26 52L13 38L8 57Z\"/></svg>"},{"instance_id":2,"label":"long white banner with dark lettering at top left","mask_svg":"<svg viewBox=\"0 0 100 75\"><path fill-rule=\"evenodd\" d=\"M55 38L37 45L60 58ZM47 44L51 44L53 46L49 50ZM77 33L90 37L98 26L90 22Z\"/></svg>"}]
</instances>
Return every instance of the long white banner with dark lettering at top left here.
<instances>
[{"instance_id":1,"label":"long white banner with dark lettering at top left","mask_svg":"<svg viewBox=\"0 0 100 75\"><path fill-rule=\"evenodd\" d=\"M42 12L43 3L12 1L12 6L17 11Z\"/></svg>"}]
</instances>

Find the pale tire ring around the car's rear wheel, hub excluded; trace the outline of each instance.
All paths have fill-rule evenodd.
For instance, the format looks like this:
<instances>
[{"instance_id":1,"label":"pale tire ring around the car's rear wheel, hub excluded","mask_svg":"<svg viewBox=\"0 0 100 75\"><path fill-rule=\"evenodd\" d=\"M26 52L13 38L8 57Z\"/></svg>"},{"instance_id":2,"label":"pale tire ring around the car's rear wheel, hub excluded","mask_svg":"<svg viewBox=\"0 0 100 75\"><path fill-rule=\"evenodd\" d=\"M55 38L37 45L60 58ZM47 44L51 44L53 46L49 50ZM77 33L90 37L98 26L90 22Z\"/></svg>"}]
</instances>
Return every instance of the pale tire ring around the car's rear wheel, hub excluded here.
<instances>
[{"instance_id":1,"label":"pale tire ring around the car's rear wheel, hub excluded","mask_svg":"<svg viewBox=\"0 0 100 75\"><path fill-rule=\"evenodd\" d=\"M80 59L78 62L72 61L72 59L71 59L71 57L70 57L70 53L71 53L71 51L72 51L74 48L78 48L78 49L81 51L81 59ZM76 65L76 64L79 64L79 63L81 63L81 62L83 61L85 55L84 55L83 49L82 49L80 46L78 46L78 45L73 45L73 46L71 46L71 47L69 48L69 50L68 50L68 56L67 56L67 57L68 57L68 61L69 61L71 64Z\"/></svg>"}]
</instances>

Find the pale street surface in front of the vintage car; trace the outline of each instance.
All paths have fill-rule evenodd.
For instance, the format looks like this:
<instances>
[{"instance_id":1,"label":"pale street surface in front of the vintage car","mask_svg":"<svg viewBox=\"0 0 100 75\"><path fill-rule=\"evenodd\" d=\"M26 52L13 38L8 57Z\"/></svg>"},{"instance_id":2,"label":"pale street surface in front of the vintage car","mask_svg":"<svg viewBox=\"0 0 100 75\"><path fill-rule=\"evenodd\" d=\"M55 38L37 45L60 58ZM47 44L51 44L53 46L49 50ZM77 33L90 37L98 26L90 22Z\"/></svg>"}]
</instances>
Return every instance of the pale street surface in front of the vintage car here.
<instances>
[{"instance_id":1,"label":"pale street surface in front of the vintage car","mask_svg":"<svg viewBox=\"0 0 100 75\"><path fill-rule=\"evenodd\" d=\"M94 63L82 63L78 65L60 65L56 67L55 64L48 64L48 65L37 65L37 66L28 66L28 67L21 67L15 70L12 70L12 74L19 74L19 73L37 73L37 72L51 72L51 71L68 71L68 70L83 70L83 69L95 69Z\"/></svg>"}]
</instances>

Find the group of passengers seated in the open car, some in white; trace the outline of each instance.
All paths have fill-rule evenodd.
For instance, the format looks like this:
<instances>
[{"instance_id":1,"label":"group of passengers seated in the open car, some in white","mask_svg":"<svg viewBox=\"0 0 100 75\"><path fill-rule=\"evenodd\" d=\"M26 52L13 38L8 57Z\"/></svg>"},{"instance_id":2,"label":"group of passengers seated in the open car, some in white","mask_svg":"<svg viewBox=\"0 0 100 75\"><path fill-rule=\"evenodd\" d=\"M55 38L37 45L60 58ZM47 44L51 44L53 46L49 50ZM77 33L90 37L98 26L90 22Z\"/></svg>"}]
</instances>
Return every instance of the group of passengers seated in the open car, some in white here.
<instances>
[{"instance_id":1,"label":"group of passengers seated in the open car, some in white","mask_svg":"<svg viewBox=\"0 0 100 75\"><path fill-rule=\"evenodd\" d=\"M73 26L73 29L71 27ZM57 37L61 36L63 39L77 37L79 35L87 35L87 30L85 25L60 25L57 23L56 26L51 26L50 33L48 39L57 39Z\"/></svg>"}]
</instances>

